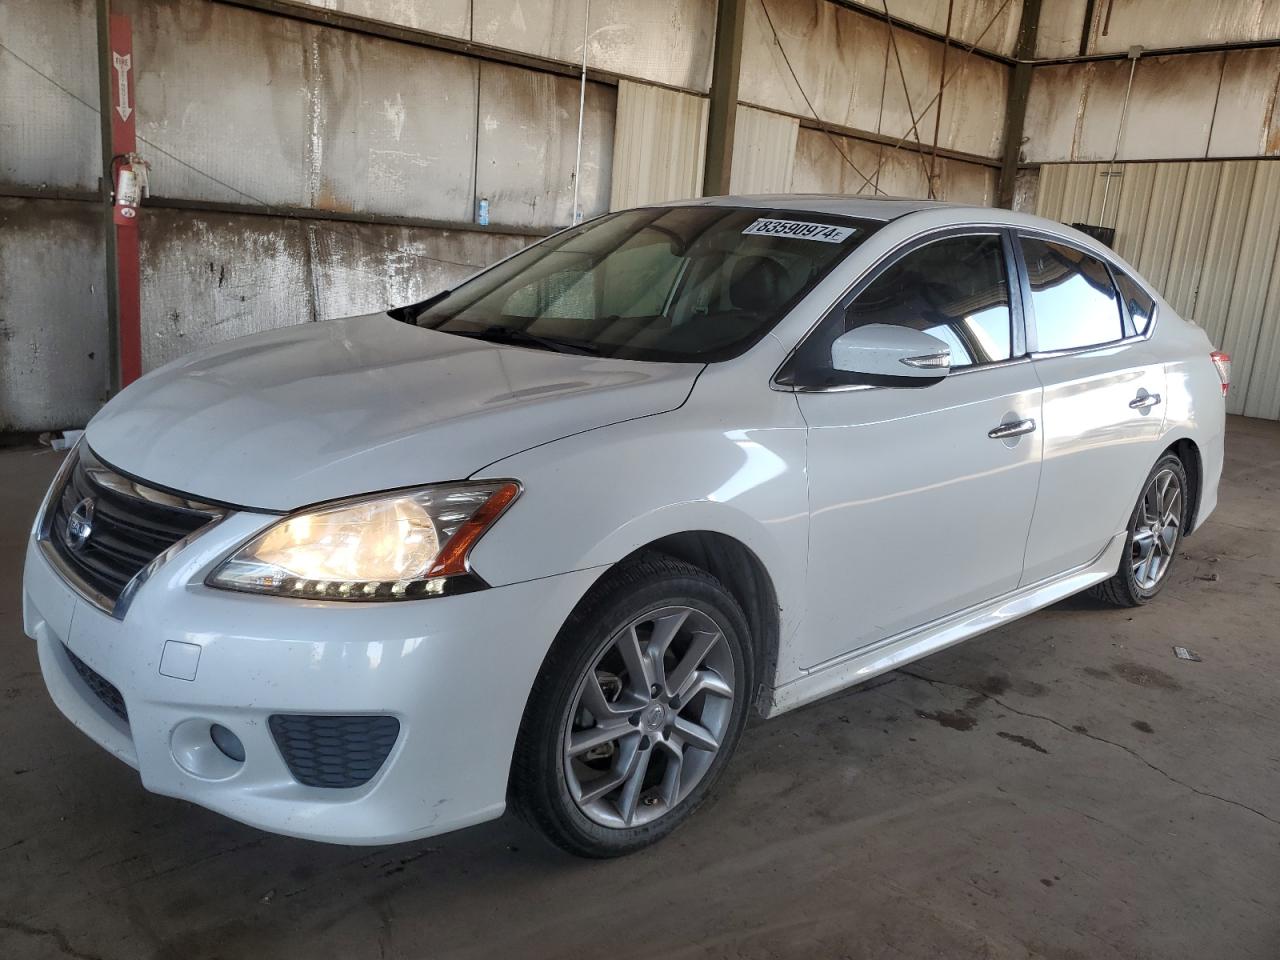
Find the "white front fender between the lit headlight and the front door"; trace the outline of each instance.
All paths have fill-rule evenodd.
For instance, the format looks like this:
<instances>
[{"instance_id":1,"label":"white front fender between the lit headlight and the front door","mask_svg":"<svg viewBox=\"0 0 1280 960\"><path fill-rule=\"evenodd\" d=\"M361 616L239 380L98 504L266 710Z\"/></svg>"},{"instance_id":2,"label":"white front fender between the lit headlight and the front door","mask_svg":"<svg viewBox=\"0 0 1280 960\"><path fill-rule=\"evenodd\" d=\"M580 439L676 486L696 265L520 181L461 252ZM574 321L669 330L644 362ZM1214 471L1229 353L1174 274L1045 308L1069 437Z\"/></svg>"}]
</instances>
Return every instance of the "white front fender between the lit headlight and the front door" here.
<instances>
[{"instance_id":1,"label":"white front fender between the lit headlight and the front door","mask_svg":"<svg viewBox=\"0 0 1280 960\"><path fill-rule=\"evenodd\" d=\"M805 431L792 397L765 393L771 410L741 425L686 406L486 467L477 476L516 477L524 493L476 545L475 571L502 585L603 570L663 536L712 531L764 564L788 636L808 550Z\"/></svg>"}]
</instances>

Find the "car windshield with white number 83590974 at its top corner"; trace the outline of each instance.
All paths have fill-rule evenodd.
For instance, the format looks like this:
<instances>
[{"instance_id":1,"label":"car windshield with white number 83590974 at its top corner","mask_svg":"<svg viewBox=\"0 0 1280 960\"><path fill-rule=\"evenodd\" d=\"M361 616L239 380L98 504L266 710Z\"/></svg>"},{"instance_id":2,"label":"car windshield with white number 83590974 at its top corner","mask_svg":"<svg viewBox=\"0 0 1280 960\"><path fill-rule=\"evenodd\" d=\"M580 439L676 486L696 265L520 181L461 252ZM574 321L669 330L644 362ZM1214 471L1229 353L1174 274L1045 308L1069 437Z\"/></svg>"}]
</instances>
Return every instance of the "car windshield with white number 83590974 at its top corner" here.
<instances>
[{"instance_id":1,"label":"car windshield with white number 83590974 at its top corner","mask_svg":"<svg viewBox=\"0 0 1280 960\"><path fill-rule=\"evenodd\" d=\"M627 210L558 233L408 316L445 333L567 353L727 360L878 227L744 207Z\"/></svg>"}]
</instances>

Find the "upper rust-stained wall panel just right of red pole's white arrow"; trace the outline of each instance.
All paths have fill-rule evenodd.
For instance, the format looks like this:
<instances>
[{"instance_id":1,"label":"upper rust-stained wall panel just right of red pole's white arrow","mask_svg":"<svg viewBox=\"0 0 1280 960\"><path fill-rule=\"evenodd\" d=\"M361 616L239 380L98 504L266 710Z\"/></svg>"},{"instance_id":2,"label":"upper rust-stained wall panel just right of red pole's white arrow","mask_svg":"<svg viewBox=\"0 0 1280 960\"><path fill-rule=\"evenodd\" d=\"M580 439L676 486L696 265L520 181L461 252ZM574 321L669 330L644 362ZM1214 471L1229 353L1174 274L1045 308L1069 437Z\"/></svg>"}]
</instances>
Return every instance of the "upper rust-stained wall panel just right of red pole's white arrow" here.
<instances>
[{"instance_id":1,"label":"upper rust-stained wall panel just right of red pole's white arrow","mask_svg":"<svg viewBox=\"0 0 1280 960\"><path fill-rule=\"evenodd\" d=\"M196 0L134 17L157 195L471 218L476 61Z\"/></svg>"}]
</instances>

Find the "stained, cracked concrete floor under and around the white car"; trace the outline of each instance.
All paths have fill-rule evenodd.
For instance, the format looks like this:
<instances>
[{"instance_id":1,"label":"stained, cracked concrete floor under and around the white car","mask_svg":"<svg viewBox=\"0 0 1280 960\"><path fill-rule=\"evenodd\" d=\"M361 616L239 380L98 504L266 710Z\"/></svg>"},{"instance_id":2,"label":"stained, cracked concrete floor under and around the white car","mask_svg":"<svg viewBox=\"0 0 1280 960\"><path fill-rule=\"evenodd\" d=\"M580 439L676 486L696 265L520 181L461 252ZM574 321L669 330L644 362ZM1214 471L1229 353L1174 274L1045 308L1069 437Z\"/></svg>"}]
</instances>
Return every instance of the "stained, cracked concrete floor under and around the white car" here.
<instances>
[{"instance_id":1,"label":"stained, cracked concrete floor under and around the white car","mask_svg":"<svg viewBox=\"0 0 1280 960\"><path fill-rule=\"evenodd\" d=\"M1280 424L1233 420L1153 605L1068 600L758 722L713 805L611 863L512 817L344 849L145 794L22 635L54 467L0 453L0 957L1280 956Z\"/></svg>"}]
</instances>

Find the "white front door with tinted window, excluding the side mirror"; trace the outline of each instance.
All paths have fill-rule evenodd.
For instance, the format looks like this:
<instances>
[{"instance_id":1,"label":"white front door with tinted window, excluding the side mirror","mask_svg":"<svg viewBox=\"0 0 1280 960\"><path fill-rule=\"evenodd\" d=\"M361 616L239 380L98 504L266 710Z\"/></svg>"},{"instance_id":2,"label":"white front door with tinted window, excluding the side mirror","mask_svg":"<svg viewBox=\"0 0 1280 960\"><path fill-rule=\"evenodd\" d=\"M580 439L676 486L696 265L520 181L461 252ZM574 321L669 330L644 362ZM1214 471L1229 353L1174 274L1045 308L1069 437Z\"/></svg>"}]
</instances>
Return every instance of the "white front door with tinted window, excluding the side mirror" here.
<instances>
[{"instance_id":1,"label":"white front door with tinted window, excluding the side mirror","mask_svg":"<svg viewBox=\"0 0 1280 960\"><path fill-rule=\"evenodd\" d=\"M809 426L812 669L1018 586L1041 468L1041 385L1023 357L998 232L918 246L842 303L797 351ZM828 385L829 343L863 324L946 340L928 387ZM803 370L803 366L801 366ZM992 435L995 433L995 435Z\"/></svg>"}]
</instances>

